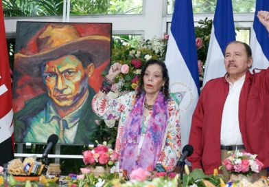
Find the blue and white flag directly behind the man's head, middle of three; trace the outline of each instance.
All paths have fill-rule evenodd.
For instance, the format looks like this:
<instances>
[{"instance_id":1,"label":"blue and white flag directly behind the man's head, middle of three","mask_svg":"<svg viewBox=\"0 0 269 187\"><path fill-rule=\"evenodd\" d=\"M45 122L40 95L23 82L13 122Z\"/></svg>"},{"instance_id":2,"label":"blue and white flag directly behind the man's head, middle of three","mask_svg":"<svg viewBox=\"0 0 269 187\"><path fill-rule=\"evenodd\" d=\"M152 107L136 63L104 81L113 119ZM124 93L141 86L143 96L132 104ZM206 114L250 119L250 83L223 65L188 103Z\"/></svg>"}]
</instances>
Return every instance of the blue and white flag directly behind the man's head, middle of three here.
<instances>
[{"instance_id":1,"label":"blue and white flag directly behind the man's head, middle of three","mask_svg":"<svg viewBox=\"0 0 269 187\"><path fill-rule=\"evenodd\" d=\"M224 76L226 73L224 50L231 41L235 41L232 2L231 0L218 0L207 52L203 86L207 81Z\"/></svg>"}]
</instances>

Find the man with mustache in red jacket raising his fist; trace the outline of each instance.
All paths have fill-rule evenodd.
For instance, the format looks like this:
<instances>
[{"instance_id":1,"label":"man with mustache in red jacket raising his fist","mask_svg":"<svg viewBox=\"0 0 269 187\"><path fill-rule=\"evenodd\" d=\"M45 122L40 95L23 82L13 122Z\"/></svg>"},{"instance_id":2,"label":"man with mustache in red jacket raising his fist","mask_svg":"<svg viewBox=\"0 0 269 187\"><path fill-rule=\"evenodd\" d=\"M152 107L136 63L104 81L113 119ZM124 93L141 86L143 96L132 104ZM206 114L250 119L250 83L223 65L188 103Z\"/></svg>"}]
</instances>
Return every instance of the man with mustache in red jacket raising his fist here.
<instances>
[{"instance_id":1,"label":"man with mustache in red jacket raising his fist","mask_svg":"<svg viewBox=\"0 0 269 187\"><path fill-rule=\"evenodd\" d=\"M269 12L257 16L269 33ZM224 57L227 73L202 89L189 137L194 153L188 160L206 174L235 149L255 153L264 168L269 166L269 68L250 74L251 55L246 43L230 43Z\"/></svg>"}]
</instances>

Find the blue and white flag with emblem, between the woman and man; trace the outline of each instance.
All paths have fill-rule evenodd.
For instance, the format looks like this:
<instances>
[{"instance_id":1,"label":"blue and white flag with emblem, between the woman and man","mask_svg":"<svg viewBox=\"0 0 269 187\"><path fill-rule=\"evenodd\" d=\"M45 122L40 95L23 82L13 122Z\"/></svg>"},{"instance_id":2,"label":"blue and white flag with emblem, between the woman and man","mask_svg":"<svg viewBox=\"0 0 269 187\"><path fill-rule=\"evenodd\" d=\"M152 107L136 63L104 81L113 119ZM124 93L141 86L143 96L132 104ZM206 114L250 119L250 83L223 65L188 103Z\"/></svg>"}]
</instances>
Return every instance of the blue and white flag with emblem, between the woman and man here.
<instances>
[{"instance_id":1,"label":"blue and white flag with emblem, between the woman and man","mask_svg":"<svg viewBox=\"0 0 269 187\"><path fill-rule=\"evenodd\" d=\"M182 147L189 142L191 118L198 101L199 76L191 1L176 0L165 64L172 97L180 102Z\"/></svg>"}]
</instances>

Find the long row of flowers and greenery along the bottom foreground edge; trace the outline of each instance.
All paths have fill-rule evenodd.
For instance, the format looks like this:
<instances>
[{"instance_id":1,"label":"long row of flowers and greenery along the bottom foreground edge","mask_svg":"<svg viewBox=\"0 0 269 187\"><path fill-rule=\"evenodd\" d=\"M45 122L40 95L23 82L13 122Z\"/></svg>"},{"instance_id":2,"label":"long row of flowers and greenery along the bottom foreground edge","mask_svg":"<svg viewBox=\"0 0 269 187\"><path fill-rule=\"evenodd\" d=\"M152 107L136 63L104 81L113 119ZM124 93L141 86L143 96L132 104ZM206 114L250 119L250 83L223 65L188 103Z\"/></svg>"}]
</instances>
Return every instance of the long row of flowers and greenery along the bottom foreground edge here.
<instances>
[{"instance_id":1,"label":"long row of flowers and greenery along the bottom foreground edge","mask_svg":"<svg viewBox=\"0 0 269 187\"><path fill-rule=\"evenodd\" d=\"M80 186L117 186L117 187L142 187L142 186L180 186L180 187L199 187L199 186L235 186L235 187L257 187L257 186L268 186L269 178L264 177L255 181L255 183L250 183L248 181L229 181L227 184L221 178L222 175L218 175L218 169L214 170L213 175L204 175L203 171L200 169L194 169L189 172L189 168L185 166L185 174L183 175L183 181L179 179L179 175L176 173L154 173L142 168L133 170L130 173L130 178L126 181L126 178L120 177L118 173L110 173L95 177L93 173L88 170L84 170L82 175L70 174L66 179L69 181L68 184L71 187Z\"/></svg>"}]
</instances>

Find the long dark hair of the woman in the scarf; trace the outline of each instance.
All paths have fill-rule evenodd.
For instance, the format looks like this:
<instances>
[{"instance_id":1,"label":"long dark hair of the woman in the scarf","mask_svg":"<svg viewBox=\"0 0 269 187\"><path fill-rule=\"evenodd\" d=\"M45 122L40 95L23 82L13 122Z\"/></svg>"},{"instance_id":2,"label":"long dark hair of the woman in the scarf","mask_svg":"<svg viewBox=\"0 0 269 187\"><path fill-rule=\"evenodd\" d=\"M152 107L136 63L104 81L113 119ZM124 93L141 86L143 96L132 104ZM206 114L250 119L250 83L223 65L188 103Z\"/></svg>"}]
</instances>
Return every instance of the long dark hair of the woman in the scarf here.
<instances>
[{"instance_id":1,"label":"long dark hair of the woman in the scarf","mask_svg":"<svg viewBox=\"0 0 269 187\"><path fill-rule=\"evenodd\" d=\"M145 63L145 65L142 68L141 71L141 76L140 76L140 81L139 81L139 87L137 89L137 98L139 98L142 94L142 92L144 91L144 80L143 77L145 75L145 69L148 68L148 66L150 65L159 65L161 66L162 72L163 72L163 80L165 81L165 85L163 86L163 96L165 97L165 100L168 100L170 98L169 95L169 76L168 76L168 70L166 68L165 63L163 63L163 61L157 61L157 60L150 60L147 63Z\"/></svg>"}]
</instances>

